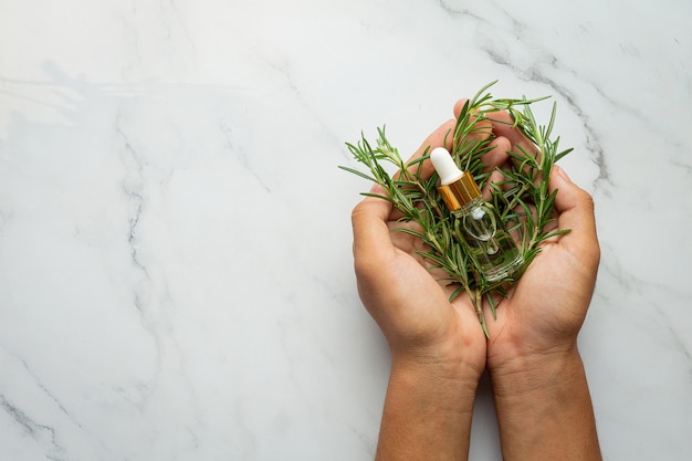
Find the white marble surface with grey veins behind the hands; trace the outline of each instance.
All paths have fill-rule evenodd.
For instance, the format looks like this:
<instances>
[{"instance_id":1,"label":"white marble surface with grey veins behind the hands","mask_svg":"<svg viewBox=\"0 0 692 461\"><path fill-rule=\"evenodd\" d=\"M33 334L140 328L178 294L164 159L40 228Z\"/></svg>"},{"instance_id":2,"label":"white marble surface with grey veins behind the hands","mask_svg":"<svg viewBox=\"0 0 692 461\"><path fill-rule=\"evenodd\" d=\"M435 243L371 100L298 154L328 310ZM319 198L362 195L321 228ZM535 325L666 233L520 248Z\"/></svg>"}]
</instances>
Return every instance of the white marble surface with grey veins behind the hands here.
<instances>
[{"instance_id":1,"label":"white marble surface with grey veins behind the hands","mask_svg":"<svg viewBox=\"0 0 692 461\"><path fill-rule=\"evenodd\" d=\"M389 357L345 142L553 95L606 459L692 459L692 3L0 3L0 459L367 460ZM546 115L549 106L545 106ZM471 458L499 460L489 383Z\"/></svg>"}]
</instances>

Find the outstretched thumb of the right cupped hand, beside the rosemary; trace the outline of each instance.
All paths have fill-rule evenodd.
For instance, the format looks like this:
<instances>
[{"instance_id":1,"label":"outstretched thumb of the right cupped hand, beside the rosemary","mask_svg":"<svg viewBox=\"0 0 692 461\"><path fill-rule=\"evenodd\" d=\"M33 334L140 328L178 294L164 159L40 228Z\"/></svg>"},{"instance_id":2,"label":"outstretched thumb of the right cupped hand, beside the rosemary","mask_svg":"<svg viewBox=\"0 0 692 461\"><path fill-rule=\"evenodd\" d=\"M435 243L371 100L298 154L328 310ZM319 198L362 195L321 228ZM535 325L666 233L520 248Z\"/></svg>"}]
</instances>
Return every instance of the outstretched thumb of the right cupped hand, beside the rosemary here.
<instances>
[{"instance_id":1,"label":"outstretched thumb of the right cupped hand, beside the rosemary","mask_svg":"<svg viewBox=\"0 0 692 461\"><path fill-rule=\"evenodd\" d=\"M560 230L570 229L562 235L559 244L577 256L590 269L598 266L600 249L596 234L596 218L591 196L572 182L567 174L555 165L549 179L551 192L558 190L555 209L559 213L557 224Z\"/></svg>"}]
</instances>

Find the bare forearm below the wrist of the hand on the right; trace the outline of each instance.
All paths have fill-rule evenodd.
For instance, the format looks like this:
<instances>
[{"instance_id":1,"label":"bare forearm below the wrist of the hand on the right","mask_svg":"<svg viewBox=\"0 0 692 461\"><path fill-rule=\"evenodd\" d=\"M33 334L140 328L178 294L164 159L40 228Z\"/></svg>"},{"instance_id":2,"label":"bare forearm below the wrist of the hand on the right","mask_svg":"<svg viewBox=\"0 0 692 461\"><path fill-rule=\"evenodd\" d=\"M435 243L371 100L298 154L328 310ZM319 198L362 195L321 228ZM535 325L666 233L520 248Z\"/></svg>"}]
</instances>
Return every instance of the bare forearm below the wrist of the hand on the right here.
<instances>
[{"instance_id":1,"label":"bare forearm below the wrist of the hand on the right","mask_svg":"<svg viewBox=\"0 0 692 461\"><path fill-rule=\"evenodd\" d=\"M505 461L600 460L594 409L578 352L491 370Z\"/></svg>"}]
</instances>

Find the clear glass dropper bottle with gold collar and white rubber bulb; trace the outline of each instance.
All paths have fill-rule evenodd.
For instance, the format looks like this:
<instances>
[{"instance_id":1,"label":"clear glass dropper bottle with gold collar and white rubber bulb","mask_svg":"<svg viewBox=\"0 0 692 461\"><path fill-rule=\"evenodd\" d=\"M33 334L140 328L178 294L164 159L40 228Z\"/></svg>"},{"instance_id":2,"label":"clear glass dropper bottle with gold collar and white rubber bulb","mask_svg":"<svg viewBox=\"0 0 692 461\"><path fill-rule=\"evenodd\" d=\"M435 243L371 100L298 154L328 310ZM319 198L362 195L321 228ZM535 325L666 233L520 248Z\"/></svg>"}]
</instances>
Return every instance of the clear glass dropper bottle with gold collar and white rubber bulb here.
<instances>
[{"instance_id":1,"label":"clear glass dropper bottle with gold collar and white rubber bulb","mask_svg":"<svg viewBox=\"0 0 692 461\"><path fill-rule=\"evenodd\" d=\"M489 282L511 277L524 258L495 207L483 200L473 176L461 171L445 148L433 149L430 160L440 177L438 190L455 217L457 234L478 270Z\"/></svg>"}]
</instances>

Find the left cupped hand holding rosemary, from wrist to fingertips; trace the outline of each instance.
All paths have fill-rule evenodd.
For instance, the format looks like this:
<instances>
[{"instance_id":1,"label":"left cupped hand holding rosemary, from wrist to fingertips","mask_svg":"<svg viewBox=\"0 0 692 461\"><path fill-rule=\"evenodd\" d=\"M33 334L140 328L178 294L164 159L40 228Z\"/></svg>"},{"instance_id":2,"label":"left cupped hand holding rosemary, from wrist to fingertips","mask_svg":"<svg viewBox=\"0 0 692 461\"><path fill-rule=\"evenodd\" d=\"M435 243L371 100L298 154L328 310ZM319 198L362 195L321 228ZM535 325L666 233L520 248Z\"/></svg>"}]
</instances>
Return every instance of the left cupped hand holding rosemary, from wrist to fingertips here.
<instances>
[{"instance_id":1,"label":"left cupped hand holding rosemary, from wrist to fingertips","mask_svg":"<svg viewBox=\"0 0 692 461\"><path fill-rule=\"evenodd\" d=\"M454 128L454 121L440 126L412 158L426 148L440 147ZM448 146L449 147L449 146ZM422 176L433 169L426 161ZM381 188L376 193L386 193ZM366 308L381 328L392 362L437 363L465 373L478 381L484 369L485 339L466 296L449 302L451 289L427 269L417 254L420 239L395 228L415 227L397 222L390 202L367 198L353 211L354 260L358 292Z\"/></svg>"}]
</instances>

